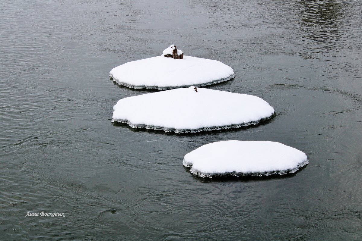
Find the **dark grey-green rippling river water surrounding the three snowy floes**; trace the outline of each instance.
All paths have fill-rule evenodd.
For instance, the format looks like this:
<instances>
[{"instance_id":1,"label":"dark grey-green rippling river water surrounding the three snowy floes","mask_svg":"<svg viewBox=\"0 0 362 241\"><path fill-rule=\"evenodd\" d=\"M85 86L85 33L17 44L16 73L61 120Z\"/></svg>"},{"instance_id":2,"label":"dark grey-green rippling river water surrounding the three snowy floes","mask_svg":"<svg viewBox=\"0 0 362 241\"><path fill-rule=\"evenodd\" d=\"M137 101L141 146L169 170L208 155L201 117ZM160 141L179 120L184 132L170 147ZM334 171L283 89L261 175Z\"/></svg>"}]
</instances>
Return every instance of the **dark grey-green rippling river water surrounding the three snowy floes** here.
<instances>
[{"instance_id":1,"label":"dark grey-green rippling river water surrounding the three snowy floes","mask_svg":"<svg viewBox=\"0 0 362 241\"><path fill-rule=\"evenodd\" d=\"M361 22L359 0L1 1L0 240L361 240ZM184 135L113 125L117 100L149 91L110 69L170 44L231 66L209 88L259 96L275 118ZM211 181L182 166L230 139L310 164Z\"/></svg>"}]
</instances>

